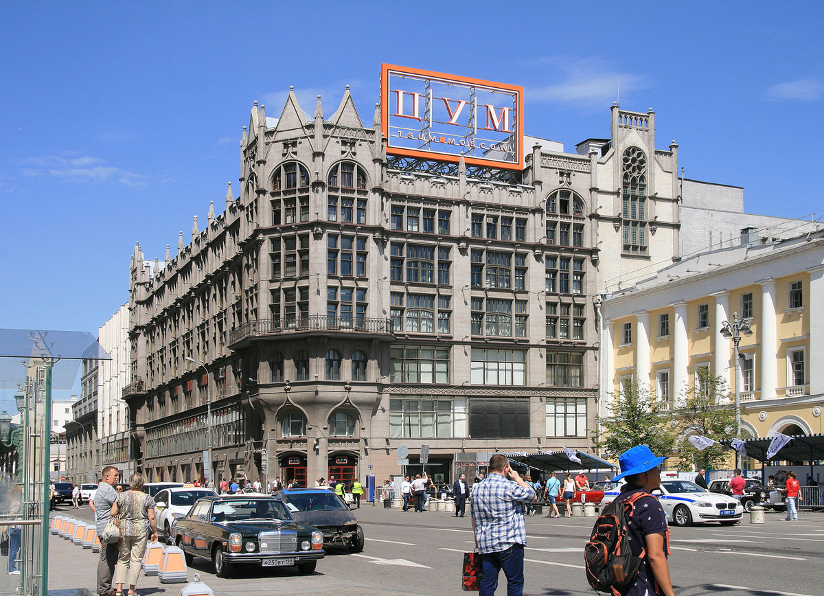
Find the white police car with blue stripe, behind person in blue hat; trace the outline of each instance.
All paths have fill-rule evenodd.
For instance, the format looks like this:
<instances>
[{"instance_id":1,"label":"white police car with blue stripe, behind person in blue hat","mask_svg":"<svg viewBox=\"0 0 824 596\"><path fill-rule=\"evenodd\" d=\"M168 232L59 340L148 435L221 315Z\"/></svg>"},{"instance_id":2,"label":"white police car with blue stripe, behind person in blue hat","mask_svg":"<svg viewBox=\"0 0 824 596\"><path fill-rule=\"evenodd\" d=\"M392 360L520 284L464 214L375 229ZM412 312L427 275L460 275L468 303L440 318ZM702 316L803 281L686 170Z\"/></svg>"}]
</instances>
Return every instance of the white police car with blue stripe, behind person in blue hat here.
<instances>
[{"instance_id":1,"label":"white police car with blue stripe, behind person in blue hat","mask_svg":"<svg viewBox=\"0 0 824 596\"><path fill-rule=\"evenodd\" d=\"M620 494L621 486L604 493L602 509ZM652 492L661 501L667 521L677 526L705 522L732 525L740 522L744 514L742 504L733 497L711 493L686 480L662 480L661 487Z\"/></svg>"}]
</instances>

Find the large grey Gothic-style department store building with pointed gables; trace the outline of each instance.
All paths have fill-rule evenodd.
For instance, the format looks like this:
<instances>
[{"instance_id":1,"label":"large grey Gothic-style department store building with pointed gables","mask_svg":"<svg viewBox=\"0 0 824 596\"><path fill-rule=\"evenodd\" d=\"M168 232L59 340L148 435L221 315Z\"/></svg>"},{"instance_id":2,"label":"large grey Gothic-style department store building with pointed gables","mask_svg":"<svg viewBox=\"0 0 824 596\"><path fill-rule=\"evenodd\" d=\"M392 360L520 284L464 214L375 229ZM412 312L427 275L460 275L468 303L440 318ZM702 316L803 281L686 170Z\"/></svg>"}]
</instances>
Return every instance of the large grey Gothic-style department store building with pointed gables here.
<instances>
[{"instance_id":1,"label":"large grey Gothic-style department store building with pointed gables","mask_svg":"<svg viewBox=\"0 0 824 596\"><path fill-rule=\"evenodd\" d=\"M588 448L592 298L680 256L677 145L617 105L578 153L523 144L515 170L400 157L348 89L329 119L320 97L314 118L293 92L279 119L255 103L240 196L175 259L132 258L124 398L149 480L204 476L209 436L218 480L310 486L400 473L401 445L410 472L429 445L438 481Z\"/></svg>"}]
</instances>

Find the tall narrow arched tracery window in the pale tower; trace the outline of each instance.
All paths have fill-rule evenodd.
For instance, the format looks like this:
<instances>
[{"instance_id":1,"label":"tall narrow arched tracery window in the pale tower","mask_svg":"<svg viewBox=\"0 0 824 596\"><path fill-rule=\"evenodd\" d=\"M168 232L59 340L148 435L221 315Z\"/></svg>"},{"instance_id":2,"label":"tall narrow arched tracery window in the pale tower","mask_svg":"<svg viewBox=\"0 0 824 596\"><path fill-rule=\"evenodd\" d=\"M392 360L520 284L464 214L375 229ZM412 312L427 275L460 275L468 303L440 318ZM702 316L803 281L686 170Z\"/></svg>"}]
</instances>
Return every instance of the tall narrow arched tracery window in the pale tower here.
<instances>
[{"instance_id":1,"label":"tall narrow arched tracery window in the pale tower","mask_svg":"<svg viewBox=\"0 0 824 596\"><path fill-rule=\"evenodd\" d=\"M621 163L621 217L624 251L647 254L647 156L628 147Z\"/></svg>"}]
</instances>

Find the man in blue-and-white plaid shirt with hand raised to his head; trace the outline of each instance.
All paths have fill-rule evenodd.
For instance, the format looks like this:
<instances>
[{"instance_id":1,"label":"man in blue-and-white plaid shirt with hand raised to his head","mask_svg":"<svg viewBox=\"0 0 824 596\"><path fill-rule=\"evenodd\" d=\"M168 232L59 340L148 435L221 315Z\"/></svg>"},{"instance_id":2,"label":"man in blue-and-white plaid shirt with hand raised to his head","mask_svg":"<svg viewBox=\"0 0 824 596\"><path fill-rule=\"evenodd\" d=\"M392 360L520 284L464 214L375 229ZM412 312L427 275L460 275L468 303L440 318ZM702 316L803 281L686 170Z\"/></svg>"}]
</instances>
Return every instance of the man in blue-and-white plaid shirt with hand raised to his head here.
<instances>
[{"instance_id":1,"label":"man in blue-and-white plaid shirt with hand raised to his head","mask_svg":"<svg viewBox=\"0 0 824 596\"><path fill-rule=\"evenodd\" d=\"M489 477L472 488L472 529L475 548L484 563L480 596L498 588L499 571L507 577L508 596L523 594L523 547L527 527L523 504L536 500L535 490L495 453L489 459Z\"/></svg>"}]
</instances>

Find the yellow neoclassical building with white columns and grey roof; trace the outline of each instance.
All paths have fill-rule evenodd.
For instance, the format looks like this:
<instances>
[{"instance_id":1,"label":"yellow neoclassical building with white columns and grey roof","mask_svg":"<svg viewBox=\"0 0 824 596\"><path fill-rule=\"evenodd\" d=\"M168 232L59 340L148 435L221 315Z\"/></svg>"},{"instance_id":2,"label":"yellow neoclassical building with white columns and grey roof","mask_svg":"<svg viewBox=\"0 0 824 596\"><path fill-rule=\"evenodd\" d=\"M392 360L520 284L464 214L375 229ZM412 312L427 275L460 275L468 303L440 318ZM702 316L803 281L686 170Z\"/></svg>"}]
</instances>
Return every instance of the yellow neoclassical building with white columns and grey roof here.
<instances>
[{"instance_id":1,"label":"yellow neoclassical building with white columns and grey roof","mask_svg":"<svg viewBox=\"0 0 824 596\"><path fill-rule=\"evenodd\" d=\"M824 232L748 240L603 295L599 415L627 377L677 406L700 368L723 378L732 402L733 341L721 330L737 316L752 331L739 347L742 435L822 432Z\"/></svg>"}]
</instances>

